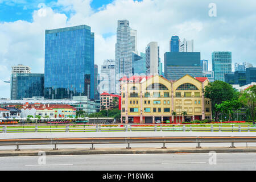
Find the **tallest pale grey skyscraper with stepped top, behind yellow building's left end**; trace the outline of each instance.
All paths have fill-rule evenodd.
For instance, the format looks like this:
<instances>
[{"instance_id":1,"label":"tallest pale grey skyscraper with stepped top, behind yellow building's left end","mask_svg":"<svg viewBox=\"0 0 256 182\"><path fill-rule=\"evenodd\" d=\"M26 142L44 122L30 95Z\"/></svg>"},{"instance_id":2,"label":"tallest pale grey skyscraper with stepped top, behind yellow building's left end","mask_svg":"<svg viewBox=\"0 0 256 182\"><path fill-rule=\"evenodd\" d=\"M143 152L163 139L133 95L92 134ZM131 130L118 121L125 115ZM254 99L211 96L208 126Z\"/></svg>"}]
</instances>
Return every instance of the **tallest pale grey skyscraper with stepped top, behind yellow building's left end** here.
<instances>
[{"instance_id":1,"label":"tallest pale grey skyscraper with stepped top, behind yellow building's left end","mask_svg":"<svg viewBox=\"0 0 256 182\"><path fill-rule=\"evenodd\" d=\"M119 80L130 77L133 68L131 28L128 20L117 22L117 43L115 44L115 92L119 94Z\"/></svg>"}]
</instances>

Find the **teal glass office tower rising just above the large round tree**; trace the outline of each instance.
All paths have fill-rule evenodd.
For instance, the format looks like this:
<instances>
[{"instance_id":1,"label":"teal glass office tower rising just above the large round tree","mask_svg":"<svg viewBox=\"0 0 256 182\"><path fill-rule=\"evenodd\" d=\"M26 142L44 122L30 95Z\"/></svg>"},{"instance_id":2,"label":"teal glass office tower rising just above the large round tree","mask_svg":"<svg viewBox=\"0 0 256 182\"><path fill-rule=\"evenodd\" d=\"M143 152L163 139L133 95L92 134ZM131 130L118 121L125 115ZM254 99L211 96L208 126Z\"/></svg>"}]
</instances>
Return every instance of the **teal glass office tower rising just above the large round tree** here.
<instances>
[{"instance_id":1,"label":"teal glass office tower rising just above the large round tree","mask_svg":"<svg viewBox=\"0 0 256 182\"><path fill-rule=\"evenodd\" d=\"M225 73L232 72L232 53L228 51L212 52L212 70L215 80L225 81Z\"/></svg>"}]
</instances>

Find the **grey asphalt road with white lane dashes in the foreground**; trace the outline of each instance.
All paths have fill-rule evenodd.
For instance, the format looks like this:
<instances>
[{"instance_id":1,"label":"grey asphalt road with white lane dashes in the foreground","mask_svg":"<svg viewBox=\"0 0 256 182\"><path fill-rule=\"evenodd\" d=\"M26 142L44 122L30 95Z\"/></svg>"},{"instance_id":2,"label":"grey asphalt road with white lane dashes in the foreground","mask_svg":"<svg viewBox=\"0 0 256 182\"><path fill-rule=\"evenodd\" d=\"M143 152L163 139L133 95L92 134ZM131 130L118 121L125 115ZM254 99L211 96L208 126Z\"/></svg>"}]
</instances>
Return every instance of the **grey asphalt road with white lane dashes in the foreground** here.
<instances>
[{"instance_id":1,"label":"grey asphalt road with white lane dashes in the foreground","mask_svg":"<svg viewBox=\"0 0 256 182\"><path fill-rule=\"evenodd\" d=\"M216 156L209 154L125 154L0 158L1 171L246 171L255 169L256 153L218 153Z\"/></svg>"}]
</instances>

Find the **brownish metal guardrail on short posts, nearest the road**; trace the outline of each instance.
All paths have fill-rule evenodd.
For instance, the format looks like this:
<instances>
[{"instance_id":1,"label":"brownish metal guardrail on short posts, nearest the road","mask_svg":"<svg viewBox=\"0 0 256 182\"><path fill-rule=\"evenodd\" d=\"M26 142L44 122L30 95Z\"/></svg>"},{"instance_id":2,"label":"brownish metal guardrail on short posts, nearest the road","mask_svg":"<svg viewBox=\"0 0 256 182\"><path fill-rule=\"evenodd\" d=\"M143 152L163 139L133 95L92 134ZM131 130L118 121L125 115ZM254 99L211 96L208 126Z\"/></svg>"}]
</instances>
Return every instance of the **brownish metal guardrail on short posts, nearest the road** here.
<instances>
[{"instance_id":1,"label":"brownish metal guardrail on short posts, nearest the road","mask_svg":"<svg viewBox=\"0 0 256 182\"><path fill-rule=\"evenodd\" d=\"M256 142L256 137L114 137L114 138L34 138L34 139L0 139L0 146L16 146L19 151L20 145L54 144L53 150L57 150L57 144L92 144L90 149L94 150L94 144L128 144L131 143L197 143L196 148L201 148L200 143L234 143Z\"/></svg>"}]
</instances>

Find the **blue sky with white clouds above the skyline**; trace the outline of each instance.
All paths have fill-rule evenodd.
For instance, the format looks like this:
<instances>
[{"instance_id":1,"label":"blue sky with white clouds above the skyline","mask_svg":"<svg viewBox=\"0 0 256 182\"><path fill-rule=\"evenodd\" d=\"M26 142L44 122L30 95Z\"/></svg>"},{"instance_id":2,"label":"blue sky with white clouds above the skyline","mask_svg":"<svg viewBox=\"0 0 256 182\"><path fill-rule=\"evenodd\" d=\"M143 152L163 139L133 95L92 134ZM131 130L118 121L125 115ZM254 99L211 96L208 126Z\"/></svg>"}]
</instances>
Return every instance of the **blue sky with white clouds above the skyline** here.
<instances>
[{"instance_id":1,"label":"blue sky with white clouds above the skyline","mask_svg":"<svg viewBox=\"0 0 256 182\"><path fill-rule=\"evenodd\" d=\"M256 65L256 1L234 0L0 0L0 98L10 98L11 66L44 73L45 30L86 24L95 33L98 72L115 58L117 20L137 30L138 52L158 42L160 59L171 36L194 40L201 59L231 51L232 63Z\"/></svg>"}]
</instances>

